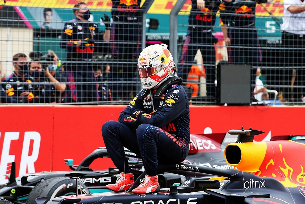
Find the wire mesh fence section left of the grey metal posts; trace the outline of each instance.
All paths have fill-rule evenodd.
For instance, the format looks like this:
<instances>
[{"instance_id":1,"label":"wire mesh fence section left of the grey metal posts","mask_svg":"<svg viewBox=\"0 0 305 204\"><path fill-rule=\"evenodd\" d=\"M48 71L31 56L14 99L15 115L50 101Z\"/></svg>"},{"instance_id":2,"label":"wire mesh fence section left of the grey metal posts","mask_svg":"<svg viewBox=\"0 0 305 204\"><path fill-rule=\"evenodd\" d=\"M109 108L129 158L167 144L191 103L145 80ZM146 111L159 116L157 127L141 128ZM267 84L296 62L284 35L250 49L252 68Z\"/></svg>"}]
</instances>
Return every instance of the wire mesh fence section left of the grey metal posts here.
<instances>
[{"instance_id":1,"label":"wire mesh fence section left of the grey metal posts","mask_svg":"<svg viewBox=\"0 0 305 204\"><path fill-rule=\"evenodd\" d=\"M134 97L144 1L28 2L1 2L2 103L120 104Z\"/></svg>"}]
</instances>

